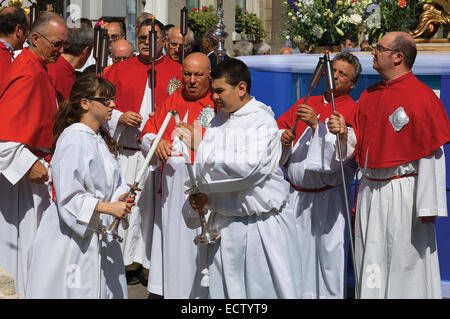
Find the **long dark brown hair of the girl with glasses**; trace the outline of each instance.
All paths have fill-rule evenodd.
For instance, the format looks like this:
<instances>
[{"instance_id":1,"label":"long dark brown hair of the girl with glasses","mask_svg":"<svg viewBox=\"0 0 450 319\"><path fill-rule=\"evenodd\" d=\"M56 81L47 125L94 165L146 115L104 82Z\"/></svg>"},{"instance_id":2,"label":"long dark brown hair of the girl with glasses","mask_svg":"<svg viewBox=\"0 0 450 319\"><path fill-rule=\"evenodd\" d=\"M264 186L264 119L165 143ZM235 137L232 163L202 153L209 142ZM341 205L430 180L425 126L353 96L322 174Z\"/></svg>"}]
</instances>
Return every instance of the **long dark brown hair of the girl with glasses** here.
<instances>
[{"instance_id":1,"label":"long dark brown hair of the girl with glasses","mask_svg":"<svg viewBox=\"0 0 450 319\"><path fill-rule=\"evenodd\" d=\"M95 74L86 74L79 77L72 86L69 100L64 101L55 115L55 125L53 126L53 147L55 151L56 141L61 133L68 126L78 123L84 110L81 108L81 99L87 96L114 96L116 89L114 85L104 78L99 78ZM109 151L117 156L120 145L100 126L100 135L105 140Z\"/></svg>"}]
</instances>

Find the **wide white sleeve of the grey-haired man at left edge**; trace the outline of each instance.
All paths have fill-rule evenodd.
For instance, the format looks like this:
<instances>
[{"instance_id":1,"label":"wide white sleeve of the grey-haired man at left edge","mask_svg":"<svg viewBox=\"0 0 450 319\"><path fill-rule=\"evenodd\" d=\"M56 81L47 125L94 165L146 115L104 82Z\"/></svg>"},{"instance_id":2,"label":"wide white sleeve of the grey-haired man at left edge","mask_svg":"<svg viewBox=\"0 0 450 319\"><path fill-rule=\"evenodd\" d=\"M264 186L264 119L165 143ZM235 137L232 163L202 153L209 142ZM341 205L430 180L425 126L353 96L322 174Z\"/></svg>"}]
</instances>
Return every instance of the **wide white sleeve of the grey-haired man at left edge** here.
<instances>
[{"instance_id":1,"label":"wide white sleeve of the grey-haired man at left edge","mask_svg":"<svg viewBox=\"0 0 450 319\"><path fill-rule=\"evenodd\" d=\"M15 185L38 158L25 144L0 141L0 172Z\"/></svg>"}]
</instances>

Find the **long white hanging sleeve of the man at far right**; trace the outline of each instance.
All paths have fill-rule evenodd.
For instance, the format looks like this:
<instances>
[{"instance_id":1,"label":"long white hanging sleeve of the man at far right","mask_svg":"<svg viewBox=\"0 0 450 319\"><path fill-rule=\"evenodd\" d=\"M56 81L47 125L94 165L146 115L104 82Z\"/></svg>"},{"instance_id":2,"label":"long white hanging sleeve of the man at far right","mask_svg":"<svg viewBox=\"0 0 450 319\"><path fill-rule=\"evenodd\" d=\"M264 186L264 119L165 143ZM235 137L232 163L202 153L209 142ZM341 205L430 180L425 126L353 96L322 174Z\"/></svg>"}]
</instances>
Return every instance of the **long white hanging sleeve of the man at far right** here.
<instances>
[{"instance_id":1,"label":"long white hanging sleeve of the man at far right","mask_svg":"<svg viewBox=\"0 0 450 319\"><path fill-rule=\"evenodd\" d=\"M417 217L447 216L445 155L440 147L418 160Z\"/></svg>"}]
</instances>

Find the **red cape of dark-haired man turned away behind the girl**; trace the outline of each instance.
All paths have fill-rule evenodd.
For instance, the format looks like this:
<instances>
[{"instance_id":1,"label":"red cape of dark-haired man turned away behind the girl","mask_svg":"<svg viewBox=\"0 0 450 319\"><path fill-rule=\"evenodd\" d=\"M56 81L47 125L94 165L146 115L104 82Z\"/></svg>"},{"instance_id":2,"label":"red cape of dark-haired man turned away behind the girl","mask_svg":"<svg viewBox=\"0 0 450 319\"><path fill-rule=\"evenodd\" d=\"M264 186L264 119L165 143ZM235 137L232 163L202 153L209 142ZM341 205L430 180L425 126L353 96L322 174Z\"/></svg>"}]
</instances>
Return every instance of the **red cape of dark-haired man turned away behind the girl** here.
<instances>
[{"instance_id":1,"label":"red cape of dark-haired man turned away behind the girl","mask_svg":"<svg viewBox=\"0 0 450 319\"><path fill-rule=\"evenodd\" d=\"M75 82L75 69L69 62L60 56L56 63L47 64L50 82L56 90L58 102L62 103L70 97L72 85Z\"/></svg>"}]
</instances>

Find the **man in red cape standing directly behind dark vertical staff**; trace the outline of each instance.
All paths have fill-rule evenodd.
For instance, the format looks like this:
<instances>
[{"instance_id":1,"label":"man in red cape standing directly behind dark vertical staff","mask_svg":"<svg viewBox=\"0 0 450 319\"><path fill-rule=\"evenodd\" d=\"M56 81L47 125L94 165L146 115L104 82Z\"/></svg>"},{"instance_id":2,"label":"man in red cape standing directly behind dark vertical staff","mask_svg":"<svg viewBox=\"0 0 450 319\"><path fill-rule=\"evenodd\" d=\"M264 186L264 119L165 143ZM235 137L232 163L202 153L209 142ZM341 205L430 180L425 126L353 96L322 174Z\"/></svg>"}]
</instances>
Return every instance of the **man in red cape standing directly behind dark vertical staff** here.
<instances>
[{"instance_id":1,"label":"man in red cape standing directly behind dark vertical staff","mask_svg":"<svg viewBox=\"0 0 450 319\"><path fill-rule=\"evenodd\" d=\"M181 65L163 55L162 48L166 41L164 25L155 19L157 33L157 56L155 58L155 107L158 108L166 97L181 87ZM140 150L138 138L152 110L149 32L152 20L144 20L138 28L139 55L114 64L105 74L116 88L116 109L108 122L111 135L123 145L119 159L125 180L134 183L144 157ZM156 174L155 174L156 175ZM148 176L148 177L147 177ZM150 249L153 232L154 196L159 196L154 189L153 174L142 179L142 189L136 197L136 206L129 217L128 230L119 227L124 238L122 248L124 262L127 266L128 283L138 283L142 266L149 268ZM142 265L142 266L141 266Z\"/></svg>"}]
</instances>

